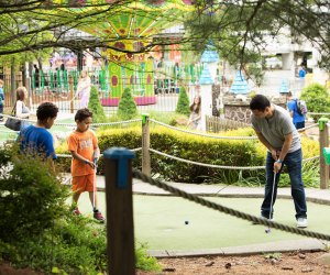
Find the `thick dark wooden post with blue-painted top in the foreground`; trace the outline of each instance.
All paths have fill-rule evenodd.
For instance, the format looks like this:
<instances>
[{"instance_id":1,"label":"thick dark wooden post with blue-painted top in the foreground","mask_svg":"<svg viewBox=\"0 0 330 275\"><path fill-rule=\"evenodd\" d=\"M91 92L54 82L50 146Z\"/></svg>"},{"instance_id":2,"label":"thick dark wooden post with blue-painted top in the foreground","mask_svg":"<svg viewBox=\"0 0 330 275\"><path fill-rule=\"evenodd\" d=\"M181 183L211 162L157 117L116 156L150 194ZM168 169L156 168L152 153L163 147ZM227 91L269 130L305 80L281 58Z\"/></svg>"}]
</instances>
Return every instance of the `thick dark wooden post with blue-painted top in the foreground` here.
<instances>
[{"instance_id":1,"label":"thick dark wooden post with blue-painted top in the foreground","mask_svg":"<svg viewBox=\"0 0 330 275\"><path fill-rule=\"evenodd\" d=\"M108 274L135 274L132 158L122 147L103 152L107 201Z\"/></svg>"}]
</instances>

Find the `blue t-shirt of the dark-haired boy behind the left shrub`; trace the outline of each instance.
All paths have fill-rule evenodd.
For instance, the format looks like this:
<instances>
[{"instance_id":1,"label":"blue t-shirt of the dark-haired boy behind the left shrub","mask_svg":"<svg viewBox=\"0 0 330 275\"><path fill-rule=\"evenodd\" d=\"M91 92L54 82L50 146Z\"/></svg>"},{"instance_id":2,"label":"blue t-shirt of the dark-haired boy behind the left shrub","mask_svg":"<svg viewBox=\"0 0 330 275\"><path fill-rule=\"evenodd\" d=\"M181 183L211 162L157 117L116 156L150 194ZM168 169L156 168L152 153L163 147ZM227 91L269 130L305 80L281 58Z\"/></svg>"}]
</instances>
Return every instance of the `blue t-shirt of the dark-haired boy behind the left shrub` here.
<instances>
[{"instance_id":1,"label":"blue t-shirt of the dark-haired boy behind the left shrub","mask_svg":"<svg viewBox=\"0 0 330 275\"><path fill-rule=\"evenodd\" d=\"M21 152L42 154L56 160L53 135L44 128L30 125L20 132Z\"/></svg>"}]
</instances>

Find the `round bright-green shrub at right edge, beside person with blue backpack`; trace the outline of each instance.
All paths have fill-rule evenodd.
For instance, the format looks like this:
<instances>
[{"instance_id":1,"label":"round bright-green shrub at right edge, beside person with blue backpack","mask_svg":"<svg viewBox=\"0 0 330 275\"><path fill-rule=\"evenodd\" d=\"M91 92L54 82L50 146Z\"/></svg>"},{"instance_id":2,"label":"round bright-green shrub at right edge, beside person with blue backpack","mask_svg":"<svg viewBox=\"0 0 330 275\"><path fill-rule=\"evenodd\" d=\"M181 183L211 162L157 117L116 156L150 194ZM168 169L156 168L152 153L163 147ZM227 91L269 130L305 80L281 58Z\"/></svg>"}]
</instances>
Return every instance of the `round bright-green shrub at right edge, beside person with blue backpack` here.
<instances>
[{"instance_id":1,"label":"round bright-green shrub at right edge, beside person with blue backpack","mask_svg":"<svg viewBox=\"0 0 330 275\"><path fill-rule=\"evenodd\" d=\"M320 84L311 84L306 87L300 98L307 103L308 112L330 112L330 95ZM321 116L312 114L315 121Z\"/></svg>"}]
</instances>

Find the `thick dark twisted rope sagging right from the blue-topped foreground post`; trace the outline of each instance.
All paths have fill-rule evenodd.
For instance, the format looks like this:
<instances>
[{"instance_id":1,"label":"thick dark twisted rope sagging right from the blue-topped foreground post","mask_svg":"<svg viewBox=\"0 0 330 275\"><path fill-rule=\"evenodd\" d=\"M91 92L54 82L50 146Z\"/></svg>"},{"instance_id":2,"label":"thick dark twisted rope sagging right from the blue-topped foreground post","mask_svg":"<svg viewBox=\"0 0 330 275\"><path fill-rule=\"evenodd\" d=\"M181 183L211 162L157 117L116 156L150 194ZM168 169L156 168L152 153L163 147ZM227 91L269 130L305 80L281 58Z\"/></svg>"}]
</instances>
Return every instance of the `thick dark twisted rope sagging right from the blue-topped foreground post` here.
<instances>
[{"instance_id":1,"label":"thick dark twisted rope sagging right from the blue-topped foreground post","mask_svg":"<svg viewBox=\"0 0 330 275\"><path fill-rule=\"evenodd\" d=\"M179 196L184 199L194 201L194 202L199 204L201 206L211 208L213 210L218 210L220 212L223 212L223 213L227 213L227 215L230 215L230 216L243 219L243 220L251 221L253 223L264 224L266 227L275 228L275 229L278 229L278 230L282 230L282 231L285 231L285 232L289 232L289 233L294 233L294 234L299 234L299 235L305 235L305 237L309 237L309 238L316 238L316 239L319 239L319 240L330 241L330 235L328 235L328 234L314 232L314 231L308 231L308 230L304 230L304 229L299 229L299 228L294 228L294 227L289 227L289 226L286 226L286 224L283 224L283 223L271 221L268 219L261 219L261 218L257 218L255 216L244 213L242 211L239 211L239 210L235 210L235 209L232 209L232 208L229 208L229 207L209 201L207 199L204 199L202 197L188 194L188 193L183 191L178 188L169 186L164 182L155 180L155 179L144 175L143 173L141 173L140 170L136 170L136 169L133 169L133 177L138 178L138 179L141 179L144 183L148 183L153 186L157 186L157 187L160 187L160 188L162 188L166 191L169 191L169 193L172 193L176 196Z\"/></svg>"}]
</instances>

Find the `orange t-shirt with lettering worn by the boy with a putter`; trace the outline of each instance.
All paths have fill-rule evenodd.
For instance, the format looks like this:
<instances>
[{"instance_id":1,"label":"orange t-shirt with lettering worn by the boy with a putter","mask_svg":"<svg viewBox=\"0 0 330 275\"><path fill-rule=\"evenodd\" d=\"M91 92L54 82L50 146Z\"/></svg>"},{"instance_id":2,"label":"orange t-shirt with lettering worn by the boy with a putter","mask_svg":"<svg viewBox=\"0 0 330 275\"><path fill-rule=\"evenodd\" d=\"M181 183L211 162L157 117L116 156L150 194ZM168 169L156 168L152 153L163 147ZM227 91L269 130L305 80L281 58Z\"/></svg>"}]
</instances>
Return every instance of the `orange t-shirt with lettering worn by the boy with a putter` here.
<instances>
[{"instance_id":1,"label":"orange t-shirt with lettering worn by the boy with a putter","mask_svg":"<svg viewBox=\"0 0 330 275\"><path fill-rule=\"evenodd\" d=\"M68 150L77 152L77 154L81 155L86 160L92 162L94 152L98 147L98 140L96 134L87 130L84 133L80 132L73 132L67 139ZM73 158L72 161L72 175L73 177L76 176L85 176L89 174L94 174L95 170L90 167L90 165Z\"/></svg>"}]
</instances>

